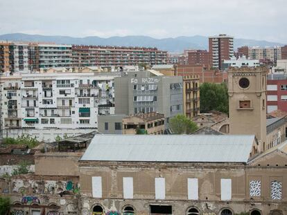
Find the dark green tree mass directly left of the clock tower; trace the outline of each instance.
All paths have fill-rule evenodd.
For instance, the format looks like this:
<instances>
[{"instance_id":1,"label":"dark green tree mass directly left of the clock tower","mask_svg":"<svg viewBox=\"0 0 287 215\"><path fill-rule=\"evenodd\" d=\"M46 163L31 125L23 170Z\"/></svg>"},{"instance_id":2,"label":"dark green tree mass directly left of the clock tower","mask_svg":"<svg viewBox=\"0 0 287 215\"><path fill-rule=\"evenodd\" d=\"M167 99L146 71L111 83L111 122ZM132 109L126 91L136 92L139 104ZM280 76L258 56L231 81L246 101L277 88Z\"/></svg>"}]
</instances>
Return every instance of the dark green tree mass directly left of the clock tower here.
<instances>
[{"instance_id":1,"label":"dark green tree mass directly left of the clock tower","mask_svg":"<svg viewBox=\"0 0 287 215\"><path fill-rule=\"evenodd\" d=\"M200 85L200 112L220 111L228 113L228 88L226 83Z\"/></svg>"}]
</instances>

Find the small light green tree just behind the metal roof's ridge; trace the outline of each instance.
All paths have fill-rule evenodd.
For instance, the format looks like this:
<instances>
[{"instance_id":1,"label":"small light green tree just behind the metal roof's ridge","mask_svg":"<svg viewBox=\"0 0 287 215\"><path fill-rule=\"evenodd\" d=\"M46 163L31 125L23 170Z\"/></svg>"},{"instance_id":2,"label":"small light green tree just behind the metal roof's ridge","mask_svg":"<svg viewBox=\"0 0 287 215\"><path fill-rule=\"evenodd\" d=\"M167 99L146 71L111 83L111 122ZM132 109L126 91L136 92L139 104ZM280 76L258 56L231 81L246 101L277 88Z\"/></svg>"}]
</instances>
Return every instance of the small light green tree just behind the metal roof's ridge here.
<instances>
[{"instance_id":1,"label":"small light green tree just behind the metal roof's ridge","mask_svg":"<svg viewBox=\"0 0 287 215\"><path fill-rule=\"evenodd\" d=\"M182 114L177 114L174 118L171 118L169 124L175 134L189 134L198 129L195 122L189 120Z\"/></svg>"}]
</instances>

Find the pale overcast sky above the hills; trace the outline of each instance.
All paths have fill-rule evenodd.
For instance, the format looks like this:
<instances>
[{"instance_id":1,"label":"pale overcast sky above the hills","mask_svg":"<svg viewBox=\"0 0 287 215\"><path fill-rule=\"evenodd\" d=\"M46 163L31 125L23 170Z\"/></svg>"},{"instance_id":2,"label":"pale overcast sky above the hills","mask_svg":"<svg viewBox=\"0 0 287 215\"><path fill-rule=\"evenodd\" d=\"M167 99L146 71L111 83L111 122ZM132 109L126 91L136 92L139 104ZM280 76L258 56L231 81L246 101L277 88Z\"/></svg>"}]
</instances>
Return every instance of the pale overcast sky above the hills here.
<instances>
[{"instance_id":1,"label":"pale overcast sky above the hills","mask_svg":"<svg viewBox=\"0 0 287 215\"><path fill-rule=\"evenodd\" d=\"M0 34L155 38L218 35L287 43L286 0L0 0Z\"/></svg>"}]
</instances>

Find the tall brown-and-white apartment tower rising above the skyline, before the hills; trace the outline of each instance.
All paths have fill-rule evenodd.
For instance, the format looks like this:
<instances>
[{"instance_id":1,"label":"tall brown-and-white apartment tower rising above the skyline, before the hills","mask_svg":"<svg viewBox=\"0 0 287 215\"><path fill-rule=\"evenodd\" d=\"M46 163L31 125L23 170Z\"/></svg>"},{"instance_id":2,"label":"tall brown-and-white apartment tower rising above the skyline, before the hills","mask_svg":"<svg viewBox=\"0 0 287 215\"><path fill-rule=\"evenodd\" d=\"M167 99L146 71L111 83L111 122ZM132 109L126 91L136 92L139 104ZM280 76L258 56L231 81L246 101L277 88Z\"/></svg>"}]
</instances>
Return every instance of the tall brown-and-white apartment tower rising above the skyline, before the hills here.
<instances>
[{"instance_id":1,"label":"tall brown-and-white apartment tower rising above the skyline, before the hills","mask_svg":"<svg viewBox=\"0 0 287 215\"><path fill-rule=\"evenodd\" d=\"M209 37L209 61L212 67L221 70L223 61L234 55L233 39L228 35Z\"/></svg>"}]
</instances>

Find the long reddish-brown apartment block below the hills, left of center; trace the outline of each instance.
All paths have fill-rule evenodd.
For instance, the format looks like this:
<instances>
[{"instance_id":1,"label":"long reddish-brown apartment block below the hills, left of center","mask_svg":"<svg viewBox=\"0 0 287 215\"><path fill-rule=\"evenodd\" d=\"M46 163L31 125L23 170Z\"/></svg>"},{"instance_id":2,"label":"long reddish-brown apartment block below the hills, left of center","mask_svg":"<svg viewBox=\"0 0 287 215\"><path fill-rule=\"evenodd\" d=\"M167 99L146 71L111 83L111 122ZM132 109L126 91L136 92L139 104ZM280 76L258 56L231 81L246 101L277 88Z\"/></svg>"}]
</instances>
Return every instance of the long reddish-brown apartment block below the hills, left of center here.
<instances>
[{"instance_id":1,"label":"long reddish-brown apartment block below the hills, left of center","mask_svg":"<svg viewBox=\"0 0 287 215\"><path fill-rule=\"evenodd\" d=\"M167 64L166 51L157 48L124 46L72 46L73 67L134 66L139 64Z\"/></svg>"}]
</instances>

